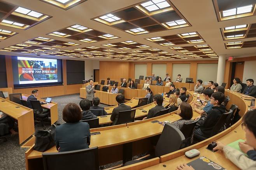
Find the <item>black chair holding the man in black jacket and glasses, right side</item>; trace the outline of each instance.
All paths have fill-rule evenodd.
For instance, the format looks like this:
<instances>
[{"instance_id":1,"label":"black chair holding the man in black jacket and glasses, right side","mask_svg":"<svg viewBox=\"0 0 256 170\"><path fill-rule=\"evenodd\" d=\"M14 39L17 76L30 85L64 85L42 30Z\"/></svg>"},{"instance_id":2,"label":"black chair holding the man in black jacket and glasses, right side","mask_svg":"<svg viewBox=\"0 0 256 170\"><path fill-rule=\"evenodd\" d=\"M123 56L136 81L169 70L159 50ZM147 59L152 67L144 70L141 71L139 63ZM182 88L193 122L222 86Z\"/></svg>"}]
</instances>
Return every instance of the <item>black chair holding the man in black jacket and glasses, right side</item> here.
<instances>
[{"instance_id":1,"label":"black chair holding the man in black jacket and glasses, right side","mask_svg":"<svg viewBox=\"0 0 256 170\"><path fill-rule=\"evenodd\" d=\"M204 136L195 134L195 135L194 135L195 140L198 141L198 142L200 142L200 141L203 141L203 140L205 140L205 139L207 139L207 138L209 138L209 137L212 137L212 136L218 134L218 133L221 131L221 128L223 128L224 123L226 122L226 119L227 119L228 115L229 115L230 113L232 113L232 112L233 112L233 110L229 110L228 113L223 113L223 114L221 115L221 117L219 118L219 120L217 121L217 123L215 124L215 126L212 128L212 131L211 131L211 133L210 133L209 136L204 137Z\"/></svg>"}]
</instances>

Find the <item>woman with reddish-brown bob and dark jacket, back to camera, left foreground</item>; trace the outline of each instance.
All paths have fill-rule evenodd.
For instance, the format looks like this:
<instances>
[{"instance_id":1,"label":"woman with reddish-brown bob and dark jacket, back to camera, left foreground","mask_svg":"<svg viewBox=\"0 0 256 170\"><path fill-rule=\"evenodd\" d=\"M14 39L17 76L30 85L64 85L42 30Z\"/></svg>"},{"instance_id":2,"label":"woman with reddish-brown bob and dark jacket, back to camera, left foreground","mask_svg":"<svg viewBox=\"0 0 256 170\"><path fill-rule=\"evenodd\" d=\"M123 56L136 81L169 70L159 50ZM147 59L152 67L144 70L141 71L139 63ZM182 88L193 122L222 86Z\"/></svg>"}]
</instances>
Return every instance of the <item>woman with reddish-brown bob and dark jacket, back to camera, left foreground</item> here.
<instances>
[{"instance_id":1,"label":"woman with reddish-brown bob and dark jacket, back to camera, left foreground","mask_svg":"<svg viewBox=\"0 0 256 170\"><path fill-rule=\"evenodd\" d=\"M88 102L91 104L90 102ZM59 152L89 148L91 133L89 124L80 121L81 110L75 103L68 103L62 111L66 123L57 126L54 140Z\"/></svg>"}]
</instances>

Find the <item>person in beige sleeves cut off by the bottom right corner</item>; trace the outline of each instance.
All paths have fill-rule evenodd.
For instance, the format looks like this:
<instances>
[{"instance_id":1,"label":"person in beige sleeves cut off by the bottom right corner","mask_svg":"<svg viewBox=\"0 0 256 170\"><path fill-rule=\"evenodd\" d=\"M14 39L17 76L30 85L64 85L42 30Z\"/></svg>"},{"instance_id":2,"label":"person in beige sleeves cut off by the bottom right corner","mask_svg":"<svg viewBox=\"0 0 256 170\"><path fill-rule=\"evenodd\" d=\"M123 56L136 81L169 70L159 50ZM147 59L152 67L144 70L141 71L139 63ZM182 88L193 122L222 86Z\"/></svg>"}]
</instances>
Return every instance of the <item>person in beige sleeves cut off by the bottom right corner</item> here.
<instances>
[{"instance_id":1,"label":"person in beige sleeves cut off by the bottom right corner","mask_svg":"<svg viewBox=\"0 0 256 170\"><path fill-rule=\"evenodd\" d=\"M233 147L224 145L222 142L216 142L217 146L213 148L214 151L223 151L226 158L233 162L238 168L242 170L256 169L256 110L249 111L244 114L242 118L242 128L245 131L245 141L239 142L238 145L242 152ZM244 154L247 154L245 156Z\"/></svg>"}]
</instances>

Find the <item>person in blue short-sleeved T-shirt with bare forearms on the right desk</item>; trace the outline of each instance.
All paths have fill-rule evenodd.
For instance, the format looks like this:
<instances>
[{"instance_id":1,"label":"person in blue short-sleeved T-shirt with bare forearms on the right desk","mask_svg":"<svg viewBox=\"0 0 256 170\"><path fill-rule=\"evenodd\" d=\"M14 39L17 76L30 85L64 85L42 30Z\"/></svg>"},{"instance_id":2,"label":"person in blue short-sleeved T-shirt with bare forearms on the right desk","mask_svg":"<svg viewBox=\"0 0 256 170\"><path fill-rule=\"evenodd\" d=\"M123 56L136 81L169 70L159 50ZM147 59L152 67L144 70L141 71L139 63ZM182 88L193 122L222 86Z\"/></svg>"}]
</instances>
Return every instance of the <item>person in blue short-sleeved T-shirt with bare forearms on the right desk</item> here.
<instances>
[{"instance_id":1,"label":"person in blue short-sleeved T-shirt with bare forearms on the right desk","mask_svg":"<svg viewBox=\"0 0 256 170\"><path fill-rule=\"evenodd\" d=\"M205 90L203 90L203 96L205 97L205 99L208 101L208 103L205 105L205 106L203 106L203 109L202 110L200 110L200 109L197 109L196 108L196 106L198 106L198 107L202 107L200 104L198 104L198 103L193 103L192 104L192 107L193 107L193 109L197 112L197 113L199 113L199 114L204 114L204 113L206 113L206 114L208 114L209 113L209 111L211 111L212 110L212 104L210 103L210 97L212 96L212 94L214 93L214 91L212 90L212 89L210 89L210 88L206 88Z\"/></svg>"}]
</instances>

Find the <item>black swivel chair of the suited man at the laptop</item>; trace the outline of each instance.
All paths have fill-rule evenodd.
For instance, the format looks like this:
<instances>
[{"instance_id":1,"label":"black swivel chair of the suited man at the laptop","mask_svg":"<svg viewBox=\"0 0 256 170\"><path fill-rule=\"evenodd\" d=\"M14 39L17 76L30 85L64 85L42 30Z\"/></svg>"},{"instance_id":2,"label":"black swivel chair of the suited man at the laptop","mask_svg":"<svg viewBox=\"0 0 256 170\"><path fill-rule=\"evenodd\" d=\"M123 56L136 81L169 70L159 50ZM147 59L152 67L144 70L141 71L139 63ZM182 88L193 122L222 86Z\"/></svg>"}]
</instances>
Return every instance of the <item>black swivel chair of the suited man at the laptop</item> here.
<instances>
[{"instance_id":1,"label":"black swivel chair of the suited man at the laptop","mask_svg":"<svg viewBox=\"0 0 256 170\"><path fill-rule=\"evenodd\" d=\"M30 103L31 103L32 109L34 110L34 119L39 120L42 126L44 127L44 129L46 129L46 126L44 125L44 120L46 120L49 117L50 115L49 110L44 112L40 104L40 101L30 100Z\"/></svg>"}]
</instances>

